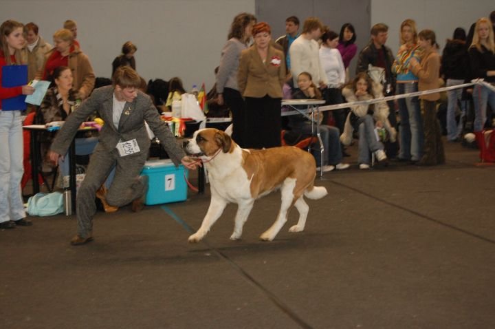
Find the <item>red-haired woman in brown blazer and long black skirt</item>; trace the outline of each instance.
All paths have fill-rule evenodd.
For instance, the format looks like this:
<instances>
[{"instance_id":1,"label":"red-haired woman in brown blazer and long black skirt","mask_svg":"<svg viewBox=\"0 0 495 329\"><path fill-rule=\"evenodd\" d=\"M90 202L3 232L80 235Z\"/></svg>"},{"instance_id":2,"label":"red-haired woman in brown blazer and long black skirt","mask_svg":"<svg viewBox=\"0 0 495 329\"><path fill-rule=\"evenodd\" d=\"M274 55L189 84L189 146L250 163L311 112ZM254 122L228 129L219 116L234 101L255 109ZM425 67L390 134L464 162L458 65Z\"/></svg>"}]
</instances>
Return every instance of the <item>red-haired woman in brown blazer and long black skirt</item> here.
<instances>
[{"instance_id":1,"label":"red-haired woman in brown blazer and long black skirt","mask_svg":"<svg viewBox=\"0 0 495 329\"><path fill-rule=\"evenodd\" d=\"M281 146L281 100L285 82L283 52L270 45L270 25L253 26L254 45L243 50L237 83L245 97L243 147Z\"/></svg>"}]
</instances>

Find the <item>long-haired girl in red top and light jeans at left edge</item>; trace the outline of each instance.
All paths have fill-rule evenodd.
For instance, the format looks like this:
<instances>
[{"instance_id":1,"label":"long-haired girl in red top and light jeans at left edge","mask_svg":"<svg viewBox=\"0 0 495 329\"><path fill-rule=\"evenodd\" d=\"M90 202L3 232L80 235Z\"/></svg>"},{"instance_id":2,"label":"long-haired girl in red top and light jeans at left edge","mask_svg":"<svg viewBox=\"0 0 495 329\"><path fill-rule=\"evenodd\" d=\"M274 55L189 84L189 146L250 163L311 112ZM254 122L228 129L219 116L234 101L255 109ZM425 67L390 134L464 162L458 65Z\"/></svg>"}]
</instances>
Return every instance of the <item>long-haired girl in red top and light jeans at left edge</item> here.
<instances>
[{"instance_id":1,"label":"long-haired girl in red top and light jeans at left edge","mask_svg":"<svg viewBox=\"0 0 495 329\"><path fill-rule=\"evenodd\" d=\"M5 67L21 64L21 50L25 45L23 24L8 20L0 26L0 229L14 229L16 225L32 225L25 219L21 195L23 175L23 134L19 105L7 107L6 100L20 95L30 95L30 85L3 87ZM27 80L27 71L25 79Z\"/></svg>"}]
</instances>

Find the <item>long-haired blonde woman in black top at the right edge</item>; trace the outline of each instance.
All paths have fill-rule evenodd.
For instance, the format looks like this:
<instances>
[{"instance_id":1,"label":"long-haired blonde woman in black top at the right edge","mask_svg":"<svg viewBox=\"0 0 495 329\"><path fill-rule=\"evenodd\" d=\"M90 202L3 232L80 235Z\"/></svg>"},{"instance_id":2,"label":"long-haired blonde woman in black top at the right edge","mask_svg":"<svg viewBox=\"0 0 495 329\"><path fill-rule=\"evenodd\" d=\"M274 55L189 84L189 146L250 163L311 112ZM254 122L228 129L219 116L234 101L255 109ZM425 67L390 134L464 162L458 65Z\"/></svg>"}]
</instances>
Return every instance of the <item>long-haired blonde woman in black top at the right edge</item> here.
<instances>
[{"instance_id":1,"label":"long-haired blonde woman in black top at the right edge","mask_svg":"<svg viewBox=\"0 0 495 329\"><path fill-rule=\"evenodd\" d=\"M485 82L495 85L495 41L492 22L489 19L483 17L476 21L469 54L472 78L483 78ZM476 85L473 101L476 132L483 130L485 125L487 104L495 109L495 92L482 85Z\"/></svg>"}]
</instances>

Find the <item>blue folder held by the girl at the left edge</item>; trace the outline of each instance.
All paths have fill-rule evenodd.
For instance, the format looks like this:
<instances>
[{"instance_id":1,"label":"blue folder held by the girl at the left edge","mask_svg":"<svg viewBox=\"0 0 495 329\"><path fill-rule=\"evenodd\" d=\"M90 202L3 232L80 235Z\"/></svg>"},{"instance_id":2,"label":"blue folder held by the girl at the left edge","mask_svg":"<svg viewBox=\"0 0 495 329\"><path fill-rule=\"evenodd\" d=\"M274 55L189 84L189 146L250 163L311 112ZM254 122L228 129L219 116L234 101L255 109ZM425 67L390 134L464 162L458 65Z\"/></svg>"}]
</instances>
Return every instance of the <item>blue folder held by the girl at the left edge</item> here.
<instances>
[{"instance_id":1,"label":"blue folder held by the girl at the left edge","mask_svg":"<svg viewBox=\"0 0 495 329\"><path fill-rule=\"evenodd\" d=\"M2 67L1 85L4 88L19 87L28 84L28 65L5 65ZM2 100L2 111L26 109L25 95L19 95Z\"/></svg>"}]
</instances>

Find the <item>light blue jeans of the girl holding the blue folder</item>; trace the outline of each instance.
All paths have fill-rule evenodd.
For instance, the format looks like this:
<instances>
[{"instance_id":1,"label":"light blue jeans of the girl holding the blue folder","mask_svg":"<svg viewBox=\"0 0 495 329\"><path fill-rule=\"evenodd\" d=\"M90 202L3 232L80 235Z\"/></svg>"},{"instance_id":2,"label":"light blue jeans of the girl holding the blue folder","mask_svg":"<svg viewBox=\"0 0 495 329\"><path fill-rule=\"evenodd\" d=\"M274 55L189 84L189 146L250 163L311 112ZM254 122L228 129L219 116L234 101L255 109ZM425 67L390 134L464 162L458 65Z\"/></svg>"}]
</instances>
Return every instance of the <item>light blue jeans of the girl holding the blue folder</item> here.
<instances>
[{"instance_id":1,"label":"light blue jeans of the girl holding the blue folder","mask_svg":"<svg viewBox=\"0 0 495 329\"><path fill-rule=\"evenodd\" d=\"M25 217L21 111L0 111L0 223Z\"/></svg>"}]
</instances>

